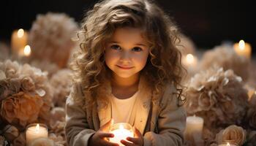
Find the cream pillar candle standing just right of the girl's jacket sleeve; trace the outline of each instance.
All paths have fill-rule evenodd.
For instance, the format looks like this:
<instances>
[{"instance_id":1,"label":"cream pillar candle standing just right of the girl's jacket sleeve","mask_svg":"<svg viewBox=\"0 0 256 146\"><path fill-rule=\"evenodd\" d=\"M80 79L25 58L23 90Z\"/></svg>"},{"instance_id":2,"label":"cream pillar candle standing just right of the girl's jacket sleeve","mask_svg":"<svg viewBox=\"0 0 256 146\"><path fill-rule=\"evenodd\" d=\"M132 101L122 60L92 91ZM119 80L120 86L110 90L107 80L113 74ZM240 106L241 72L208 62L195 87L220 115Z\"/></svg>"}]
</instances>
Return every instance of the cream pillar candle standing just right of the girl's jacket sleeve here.
<instances>
[{"instance_id":1,"label":"cream pillar candle standing just right of the girl's jacket sleeve","mask_svg":"<svg viewBox=\"0 0 256 146\"><path fill-rule=\"evenodd\" d=\"M188 116L187 117L187 126L185 131L185 136L189 140L194 140L199 142L202 139L203 131L203 118L197 116Z\"/></svg>"}]
</instances>

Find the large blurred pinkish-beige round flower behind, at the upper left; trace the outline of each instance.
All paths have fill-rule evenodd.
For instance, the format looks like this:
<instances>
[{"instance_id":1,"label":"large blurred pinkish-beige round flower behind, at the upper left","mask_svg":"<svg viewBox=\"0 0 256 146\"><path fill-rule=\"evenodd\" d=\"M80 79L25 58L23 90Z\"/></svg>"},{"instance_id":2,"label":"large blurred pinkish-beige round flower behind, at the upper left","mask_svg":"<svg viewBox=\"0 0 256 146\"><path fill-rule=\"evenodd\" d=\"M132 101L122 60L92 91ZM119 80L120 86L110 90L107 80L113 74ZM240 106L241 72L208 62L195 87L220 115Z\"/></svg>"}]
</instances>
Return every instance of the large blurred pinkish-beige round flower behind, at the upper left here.
<instances>
[{"instance_id":1,"label":"large blurred pinkish-beige round flower behind, at the upper left","mask_svg":"<svg viewBox=\"0 0 256 146\"><path fill-rule=\"evenodd\" d=\"M37 15L29 32L32 60L50 61L60 68L67 66L69 53L75 42L72 37L78 31L78 24L64 13L48 12Z\"/></svg>"}]
</instances>

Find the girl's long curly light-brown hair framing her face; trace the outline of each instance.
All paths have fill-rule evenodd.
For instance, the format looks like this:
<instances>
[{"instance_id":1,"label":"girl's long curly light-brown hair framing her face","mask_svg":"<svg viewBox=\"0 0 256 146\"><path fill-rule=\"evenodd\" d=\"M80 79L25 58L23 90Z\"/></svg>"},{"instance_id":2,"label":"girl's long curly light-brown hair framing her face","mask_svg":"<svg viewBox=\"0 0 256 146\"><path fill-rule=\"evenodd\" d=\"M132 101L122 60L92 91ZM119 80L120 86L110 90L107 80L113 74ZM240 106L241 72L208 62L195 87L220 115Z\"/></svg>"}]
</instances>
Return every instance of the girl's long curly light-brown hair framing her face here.
<instances>
[{"instance_id":1,"label":"girl's long curly light-brown hair framing her face","mask_svg":"<svg viewBox=\"0 0 256 146\"><path fill-rule=\"evenodd\" d=\"M83 87L86 101L94 101L97 88L108 75L105 65L105 44L120 27L141 28L149 44L148 61L143 74L160 93L163 85L181 82L181 53L176 47L178 28L157 4L148 0L104 0L94 5L83 20L80 50L74 55L71 67L75 82ZM80 35L83 34L83 35ZM91 99L90 99L91 97Z\"/></svg>"}]
</instances>

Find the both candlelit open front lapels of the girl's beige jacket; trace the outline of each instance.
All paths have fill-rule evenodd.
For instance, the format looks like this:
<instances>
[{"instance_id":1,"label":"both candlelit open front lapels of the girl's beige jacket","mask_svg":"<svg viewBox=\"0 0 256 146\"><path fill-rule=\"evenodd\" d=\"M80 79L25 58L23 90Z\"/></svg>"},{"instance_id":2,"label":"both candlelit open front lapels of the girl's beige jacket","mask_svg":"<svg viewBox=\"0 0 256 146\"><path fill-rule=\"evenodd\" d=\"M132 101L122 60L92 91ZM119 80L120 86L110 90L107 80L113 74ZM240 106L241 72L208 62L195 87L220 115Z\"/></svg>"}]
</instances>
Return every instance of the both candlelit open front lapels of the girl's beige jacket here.
<instances>
[{"instance_id":1,"label":"both candlelit open front lapels of the girl's beige jacket","mask_svg":"<svg viewBox=\"0 0 256 146\"><path fill-rule=\"evenodd\" d=\"M110 81L106 81L104 85L99 88L97 96L97 110L99 116L100 127L107 123L111 115L111 104L108 101L108 97L111 96L112 89ZM99 97L99 98L98 98ZM135 115L135 128L138 128L141 134L146 127L146 122L148 119L148 113L151 106L151 88L146 82L146 78L140 76L140 82L138 87L138 99L136 99L134 108L137 108Z\"/></svg>"}]
</instances>

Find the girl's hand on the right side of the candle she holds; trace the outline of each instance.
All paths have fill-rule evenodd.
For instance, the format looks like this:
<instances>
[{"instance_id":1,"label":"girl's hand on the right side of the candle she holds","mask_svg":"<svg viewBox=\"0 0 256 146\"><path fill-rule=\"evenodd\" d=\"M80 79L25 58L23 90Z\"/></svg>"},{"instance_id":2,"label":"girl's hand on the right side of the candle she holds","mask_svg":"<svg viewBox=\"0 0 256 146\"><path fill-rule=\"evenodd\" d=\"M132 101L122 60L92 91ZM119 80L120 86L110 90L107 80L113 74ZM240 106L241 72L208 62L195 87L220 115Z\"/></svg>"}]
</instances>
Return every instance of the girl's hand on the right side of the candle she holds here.
<instances>
[{"instance_id":1,"label":"girl's hand on the right side of the candle she holds","mask_svg":"<svg viewBox=\"0 0 256 146\"><path fill-rule=\"evenodd\" d=\"M143 146L143 135L137 128L134 128L135 137L127 137L127 141L121 140L121 143L125 146Z\"/></svg>"}]
</instances>

